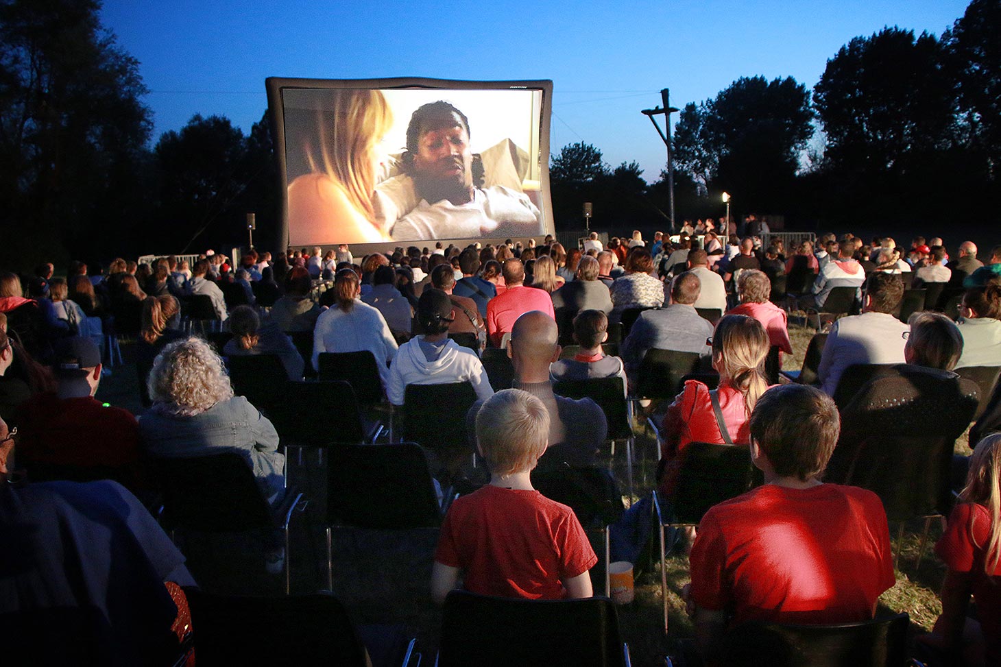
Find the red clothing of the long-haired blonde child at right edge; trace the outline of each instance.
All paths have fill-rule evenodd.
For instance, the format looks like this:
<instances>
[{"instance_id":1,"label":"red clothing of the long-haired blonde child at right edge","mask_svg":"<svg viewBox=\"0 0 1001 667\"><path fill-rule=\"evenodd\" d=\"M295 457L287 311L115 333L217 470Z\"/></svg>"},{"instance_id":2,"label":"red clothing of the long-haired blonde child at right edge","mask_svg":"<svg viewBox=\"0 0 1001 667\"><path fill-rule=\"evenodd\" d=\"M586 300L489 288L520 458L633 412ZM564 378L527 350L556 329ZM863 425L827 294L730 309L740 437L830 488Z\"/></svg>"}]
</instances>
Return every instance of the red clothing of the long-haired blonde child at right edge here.
<instances>
[{"instance_id":1,"label":"red clothing of the long-haired blonde child at right edge","mask_svg":"<svg viewBox=\"0 0 1001 667\"><path fill-rule=\"evenodd\" d=\"M987 576L987 538L991 515L987 508L973 503L957 505L949 517L935 553L955 572L973 575L973 599L987 642L986 664L1001 664L1001 564ZM980 546L977 546L980 545Z\"/></svg>"}]
</instances>

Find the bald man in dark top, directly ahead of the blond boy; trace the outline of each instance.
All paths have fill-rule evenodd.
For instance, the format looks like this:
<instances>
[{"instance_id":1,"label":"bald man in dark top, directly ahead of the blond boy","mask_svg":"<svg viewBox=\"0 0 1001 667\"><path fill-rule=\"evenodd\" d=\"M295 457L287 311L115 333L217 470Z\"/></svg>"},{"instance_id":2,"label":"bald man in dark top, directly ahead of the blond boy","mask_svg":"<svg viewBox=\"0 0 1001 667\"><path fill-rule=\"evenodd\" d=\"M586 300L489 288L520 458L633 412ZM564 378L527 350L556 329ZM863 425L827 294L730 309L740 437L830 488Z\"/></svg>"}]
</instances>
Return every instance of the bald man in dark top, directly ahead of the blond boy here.
<instances>
[{"instance_id":1,"label":"bald man in dark top, directly ahead of the blond boy","mask_svg":"<svg viewBox=\"0 0 1001 667\"><path fill-rule=\"evenodd\" d=\"M550 413L550 446L539 460L540 470L553 470L565 462L571 466L590 465L609 432L605 414L594 401L575 401L553 394L550 365L560 359L562 352L557 339L553 316L530 310L515 321L508 342L508 356L515 366L515 389L539 398ZM478 404L474 405L469 414L474 416L478 408Z\"/></svg>"}]
</instances>

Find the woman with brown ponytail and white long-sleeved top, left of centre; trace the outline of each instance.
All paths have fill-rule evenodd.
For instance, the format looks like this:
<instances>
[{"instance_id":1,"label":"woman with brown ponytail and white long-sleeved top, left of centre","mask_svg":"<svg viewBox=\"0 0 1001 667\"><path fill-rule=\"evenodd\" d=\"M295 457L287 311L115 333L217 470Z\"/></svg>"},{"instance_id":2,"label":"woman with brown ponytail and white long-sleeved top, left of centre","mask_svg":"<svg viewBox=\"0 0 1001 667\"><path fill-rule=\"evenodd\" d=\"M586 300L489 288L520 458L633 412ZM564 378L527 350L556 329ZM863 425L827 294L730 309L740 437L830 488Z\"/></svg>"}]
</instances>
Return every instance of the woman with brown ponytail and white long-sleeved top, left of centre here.
<instances>
[{"instance_id":1,"label":"woman with brown ponytail and white long-sleeved top, left of centre","mask_svg":"<svg viewBox=\"0 0 1001 667\"><path fill-rule=\"evenodd\" d=\"M316 318L312 365L319 370L321 353L367 350L375 356L382 387L389 380L389 363L396 356L396 341L378 308L362 302L361 280L352 268L341 268L333 280L333 304ZM324 296L326 295L324 293Z\"/></svg>"}]
</instances>

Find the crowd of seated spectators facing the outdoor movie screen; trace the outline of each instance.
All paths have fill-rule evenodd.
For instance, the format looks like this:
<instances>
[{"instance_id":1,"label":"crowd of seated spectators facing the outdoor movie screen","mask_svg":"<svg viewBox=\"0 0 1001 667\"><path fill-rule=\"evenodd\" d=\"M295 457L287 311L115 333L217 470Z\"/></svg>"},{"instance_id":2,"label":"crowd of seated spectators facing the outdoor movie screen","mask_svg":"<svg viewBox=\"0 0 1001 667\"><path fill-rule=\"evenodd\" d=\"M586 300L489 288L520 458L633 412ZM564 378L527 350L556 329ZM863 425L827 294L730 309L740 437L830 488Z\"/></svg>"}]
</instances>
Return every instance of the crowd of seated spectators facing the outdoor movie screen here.
<instances>
[{"instance_id":1,"label":"crowd of seated spectators facing the outdoor movie screen","mask_svg":"<svg viewBox=\"0 0 1001 667\"><path fill-rule=\"evenodd\" d=\"M712 582L705 573L707 568L726 570L745 557L753 561L758 550L774 549L750 541L746 554L727 551L730 531L753 531L765 519L726 506L708 515L694 536L690 599L709 657L715 633L744 620L871 618L875 596L893 584L892 572L886 572L885 515L871 495L821 483L833 449L828 441L833 437L837 442L838 434L837 411L831 413L833 404L823 395L835 396L841 376L855 364L906 364L912 368L898 367L899 374L931 369L949 378L955 377L955 369L1001 366L1001 247L981 263L969 241L951 257L938 238L927 243L915 238L905 249L891 238L865 243L851 234L825 234L816 246L803 241L787 256L781 239L763 246L755 236L717 239L707 233L703 244L695 229L676 242L655 235L649 246L642 234L633 234L608 243L589 238L598 244L570 250L553 239L447 245L433 252L385 248L357 258L346 248L327 256L321 248L288 248L273 259L269 253L248 252L238 262L221 253L190 261L162 257L145 269L115 259L94 274L74 261L65 278L49 265L33 276L6 272L0 275L0 418L18 428L20 459L29 473L32 467L38 471L39 479L59 466L120 469L115 479L141 496L146 480L140 452L187 457L228 448L245 455L262 493L274 498L284 484L278 434L257 408L234 396L224 358L277 355L287 379L301 380L310 371L307 366L318 370L323 353L368 351L388 403L400 406L411 384L455 382L468 382L478 399L464 417L470 441L488 464L489 484L452 506L445 524L449 535L446 539L443 529L435 557L435 598L443 598L463 574L465 588L478 592L581 597L592 593L588 570L594 554L587 540L581 543L580 525L568 519L566 508L540 500L529 473L537 465L549 471L594 465L608 424L598 404L558 396L554 384L618 376L635 391L648 351L696 353L718 375L716 389L705 379L691 380L673 402L665 402L660 490L667 497L673 492L686 444L750 444L768 489L742 497L738 509L781 505L787 519L806 516L825 523L825 530L841 526L875 540L857 545L859 558L872 560L866 568L873 580L856 582L846 592L850 600L810 603L813 608L798 601L793 609L786 598L763 612L762 606L775 597L772 593L739 596L753 586L770 587L772 580L763 576L745 589L738 581L743 569L724 582ZM731 242L725 246L721 240ZM794 274L805 276L799 287ZM779 276L786 280L778 281ZM959 299L958 321L932 312L943 309L944 300L926 303L924 311L901 321L905 289L937 282ZM777 293L779 284L788 285L795 298ZM234 285L244 292L237 299L243 304L229 298L236 293ZM764 375L770 348L793 352L787 308L820 308L831 288L845 285L858 289L857 314L826 325L819 367L822 394L798 386L770 390ZM271 295L262 298L265 289ZM182 321L194 294L207 295L216 318L226 321L227 342L210 344L185 332ZM95 319L93 324L103 324L105 331L135 338L147 409L138 420L128 411L104 408L94 398L105 366L102 355L107 355L101 335L93 333ZM292 343L290 336L300 333L311 335L311 358ZM448 338L459 333L476 335L476 349ZM574 357L561 360L560 344L569 341L580 348ZM608 343L619 344L622 359L606 354ZM491 387L479 360L483 347L500 349L510 358L513 385ZM776 399L770 402L772 393ZM990 484L998 475L999 448L990 436L1001 431L997 403L988 405L977 424L984 443L968 464L964 504L957 506L938 548L950 574L943 617L928 640L933 648L969 649L977 636L963 633L962 620L972 595L983 627L979 637L988 645L979 650L995 656L998 650L991 638L1001 611L991 586L997 582L1001 521L997 483ZM804 438L808 427L814 435ZM112 433L116 435L109 437ZM40 488L37 482L30 486L36 484ZM476 495L480 493L493 497ZM824 521L829 509L846 503L857 510L854 523L844 517L837 520L842 523ZM494 514L481 514L485 506ZM547 543L516 530L524 524L517 519L521 513L559 524L562 532L555 539L566 541L567 560L543 564L534 556ZM735 514L741 515L739 521ZM513 531L524 540L517 556L543 569L531 581L508 576L520 564L502 562L494 553L502 547L491 546L502 536L504 547L510 547ZM798 573L806 582L816 576ZM168 573L161 574L165 581ZM0 577L0 585L5 581ZM733 590L723 590L723 584Z\"/></svg>"}]
</instances>

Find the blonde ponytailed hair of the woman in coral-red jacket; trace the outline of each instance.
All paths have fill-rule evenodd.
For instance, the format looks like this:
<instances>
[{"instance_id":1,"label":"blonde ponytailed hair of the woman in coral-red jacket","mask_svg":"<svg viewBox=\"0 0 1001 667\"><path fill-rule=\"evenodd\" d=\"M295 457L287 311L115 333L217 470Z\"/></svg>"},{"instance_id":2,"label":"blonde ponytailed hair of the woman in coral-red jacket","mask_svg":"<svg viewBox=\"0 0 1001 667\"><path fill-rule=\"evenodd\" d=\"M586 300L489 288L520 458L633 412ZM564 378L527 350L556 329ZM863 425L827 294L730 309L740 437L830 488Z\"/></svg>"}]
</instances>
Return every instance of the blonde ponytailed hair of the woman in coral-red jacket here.
<instances>
[{"instance_id":1,"label":"blonde ponytailed hair of the woman in coral-red jacket","mask_svg":"<svg viewBox=\"0 0 1001 667\"><path fill-rule=\"evenodd\" d=\"M727 382L744 395L748 415L768 389L765 360L768 358L768 333L761 322L748 315L730 314L716 324L713 333L713 359L720 358L720 383Z\"/></svg>"}]
</instances>

